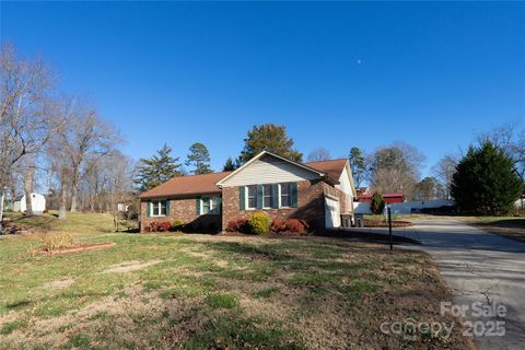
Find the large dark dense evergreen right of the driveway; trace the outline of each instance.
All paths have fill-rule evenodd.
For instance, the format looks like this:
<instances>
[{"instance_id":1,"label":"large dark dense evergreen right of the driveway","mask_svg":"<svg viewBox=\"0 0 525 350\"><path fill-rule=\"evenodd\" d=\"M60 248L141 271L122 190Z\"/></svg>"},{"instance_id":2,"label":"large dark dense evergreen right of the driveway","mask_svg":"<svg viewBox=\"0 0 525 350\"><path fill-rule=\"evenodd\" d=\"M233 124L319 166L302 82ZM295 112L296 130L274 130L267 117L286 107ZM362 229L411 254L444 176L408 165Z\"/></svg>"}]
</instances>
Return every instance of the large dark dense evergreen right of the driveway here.
<instances>
[{"instance_id":1,"label":"large dark dense evergreen right of the driveway","mask_svg":"<svg viewBox=\"0 0 525 350\"><path fill-rule=\"evenodd\" d=\"M514 161L490 141L470 147L453 176L457 208L474 214L510 213L523 190Z\"/></svg>"}]
</instances>

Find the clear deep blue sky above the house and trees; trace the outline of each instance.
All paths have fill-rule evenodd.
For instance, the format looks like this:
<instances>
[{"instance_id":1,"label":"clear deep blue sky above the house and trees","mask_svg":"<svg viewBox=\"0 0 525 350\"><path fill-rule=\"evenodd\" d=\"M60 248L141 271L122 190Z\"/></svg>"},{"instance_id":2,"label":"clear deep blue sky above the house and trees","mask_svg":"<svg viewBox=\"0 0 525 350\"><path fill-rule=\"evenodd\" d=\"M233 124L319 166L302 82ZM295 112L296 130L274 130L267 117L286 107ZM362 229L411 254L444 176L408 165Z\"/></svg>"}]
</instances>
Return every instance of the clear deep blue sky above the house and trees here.
<instances>
[{"instance_id":1,"label":"clear deep blue sky above the house and trees","mask_svg":"<svg viewBox=\"0 0 525 350\"><path fill-rule=\"evenodd\" d=\"M402 140L432 166L525 121L523 3L5 2L1 39L96 103L135 159L284 124L305 155ZM427 173L427 171L423 171Z\"/></svg>"}]
</instances>

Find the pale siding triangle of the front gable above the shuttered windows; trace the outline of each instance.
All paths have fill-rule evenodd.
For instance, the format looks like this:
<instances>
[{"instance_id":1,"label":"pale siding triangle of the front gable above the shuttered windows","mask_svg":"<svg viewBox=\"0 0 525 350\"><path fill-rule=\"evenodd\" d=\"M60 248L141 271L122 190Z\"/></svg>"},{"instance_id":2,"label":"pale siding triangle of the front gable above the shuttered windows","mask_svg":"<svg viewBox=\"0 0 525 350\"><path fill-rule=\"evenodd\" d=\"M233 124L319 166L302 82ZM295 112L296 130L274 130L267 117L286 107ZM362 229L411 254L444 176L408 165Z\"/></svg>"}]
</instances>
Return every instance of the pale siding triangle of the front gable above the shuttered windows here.
<instances>
[{"instance_id":1,"label":"pale siding triangle of the front gable above the shuttered windows","mask_svg":"<svg viewBox=\"0 0 525 350\"><path fill-rule=\"evenodd\" d=\"M289 162L265 155L226 179L222 186L245 186L312 180L320 176Z\"/></svg>"}]
</instances>

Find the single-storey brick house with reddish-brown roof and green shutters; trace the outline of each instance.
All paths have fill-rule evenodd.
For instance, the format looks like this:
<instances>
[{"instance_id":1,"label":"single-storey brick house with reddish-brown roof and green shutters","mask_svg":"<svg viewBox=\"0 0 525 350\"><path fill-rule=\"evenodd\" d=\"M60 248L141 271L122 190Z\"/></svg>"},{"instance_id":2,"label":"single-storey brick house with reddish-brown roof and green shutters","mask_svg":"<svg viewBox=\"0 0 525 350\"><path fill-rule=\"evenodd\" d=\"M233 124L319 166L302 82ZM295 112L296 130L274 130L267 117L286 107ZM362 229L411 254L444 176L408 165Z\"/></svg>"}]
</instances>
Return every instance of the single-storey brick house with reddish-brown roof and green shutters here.
<instances>
[{"instance_id":1,"label":"single-storey brick house with reddish-brown roof and green shutters","mask_svg":"<svg viewBox=\"0 0 525 350\"><path fill-rule=\"evenodd\" d=\"M234 172L176 176L140 195L140 231L180 220L195 231L224 231L256 211L302 219L312 230L341 225L357 197L348 160L296 163L262 151Z\"/></svg>"}]
</instances>

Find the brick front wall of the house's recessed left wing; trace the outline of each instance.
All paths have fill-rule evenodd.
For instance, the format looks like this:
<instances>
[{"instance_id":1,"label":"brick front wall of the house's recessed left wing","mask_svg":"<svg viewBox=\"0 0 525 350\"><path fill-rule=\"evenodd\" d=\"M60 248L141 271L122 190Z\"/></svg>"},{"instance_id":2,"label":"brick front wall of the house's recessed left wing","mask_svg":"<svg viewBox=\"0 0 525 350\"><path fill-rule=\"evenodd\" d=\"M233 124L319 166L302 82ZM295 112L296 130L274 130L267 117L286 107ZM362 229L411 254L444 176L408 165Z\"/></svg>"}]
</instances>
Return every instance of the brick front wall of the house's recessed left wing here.
<instances>
[{"instance_id":1,"label":"brick front wall of the house's recessed left wing","mask_svg":"<svg viewBox=\"0 0 525 350\"><path fill-rule=\"evenodd\" d=\"M148 218L148 200L142 200L140 203L140 232L144 232L144 226L151 222L173 222L175 219L182 220L185 224L187 224L187 230L189 231L219 231L221 229L221 215L198 215L195 202L196 197L176 199L172 198L170 199L170 213L166 213L165 217Z\"/></svg>"}]
</instances>

